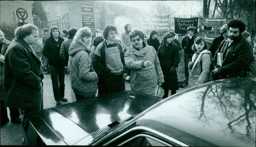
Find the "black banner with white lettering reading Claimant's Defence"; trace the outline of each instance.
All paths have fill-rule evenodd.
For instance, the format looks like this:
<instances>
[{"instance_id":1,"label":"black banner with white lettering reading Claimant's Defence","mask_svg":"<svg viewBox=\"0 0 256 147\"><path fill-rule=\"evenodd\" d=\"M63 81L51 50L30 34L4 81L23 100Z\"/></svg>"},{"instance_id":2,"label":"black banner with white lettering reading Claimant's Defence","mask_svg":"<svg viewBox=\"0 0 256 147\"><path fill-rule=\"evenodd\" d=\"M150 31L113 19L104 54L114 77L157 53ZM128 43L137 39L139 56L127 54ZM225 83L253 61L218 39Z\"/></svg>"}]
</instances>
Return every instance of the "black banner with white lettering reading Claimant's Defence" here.
<instances>
[{"instance_id":1,"label":"black banner with white lettering reading Claimant's Defence","mask_svg":"<svg viewBox=\"0 0 256 147\"><path fill-rule=\"evenodd\" d=\"M187 28L189 26L195 27L195 32L197 33L198 17L195 18L174 18L175 33L177 34L187 34Z\"/></svg>"}]
</instances>

